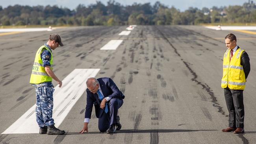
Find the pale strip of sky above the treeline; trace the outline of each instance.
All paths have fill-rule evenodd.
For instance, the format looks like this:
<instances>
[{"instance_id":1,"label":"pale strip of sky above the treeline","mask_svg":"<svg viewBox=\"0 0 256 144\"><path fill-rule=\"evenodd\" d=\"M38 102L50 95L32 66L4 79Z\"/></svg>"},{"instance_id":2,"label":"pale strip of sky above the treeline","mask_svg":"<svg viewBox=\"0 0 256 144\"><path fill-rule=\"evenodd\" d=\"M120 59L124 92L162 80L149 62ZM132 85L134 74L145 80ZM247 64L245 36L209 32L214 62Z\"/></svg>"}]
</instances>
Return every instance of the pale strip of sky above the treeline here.
<instances>
[{"instance_id":1,"label":"pale strip of sky above the treeline","mask_svg":"<svg viewBox=\"0 0 256 144\"><path fill-rule=\"evenodd\" d=\"M109 0L0 0L0 6L3 8L7 6L14 6L19 4L22 6L53 6L57 5L59 7L67 7L70 10L76 9L79 4L84 4L88 6L89 4L96 4L96 1L102 2L105 6ZM166 6L174 6L180 11L185 11L188 7L197 7L202 9L202 7L211 8L213 6L234 6L234 5L243 5L243 3L248 2L248 0L115 0L123 6L132 5L134 2L145 4L150 2L153 5L156 1L159 1L161 4Z\"/></svg>"}]
</instances>

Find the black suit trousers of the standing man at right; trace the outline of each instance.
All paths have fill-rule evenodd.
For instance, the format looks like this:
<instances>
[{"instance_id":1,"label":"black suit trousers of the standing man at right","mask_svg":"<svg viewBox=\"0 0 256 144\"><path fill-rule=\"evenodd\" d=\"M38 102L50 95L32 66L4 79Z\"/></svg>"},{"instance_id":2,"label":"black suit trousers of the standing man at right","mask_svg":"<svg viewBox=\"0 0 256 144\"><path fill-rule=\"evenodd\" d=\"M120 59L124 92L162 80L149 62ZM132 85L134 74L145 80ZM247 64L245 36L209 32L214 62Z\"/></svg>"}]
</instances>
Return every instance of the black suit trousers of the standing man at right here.
<instances>
[{"instance_id":1,"label":"black suit trousers of the standing man at right","mask_svg":"<svg viewBox=\"0 0 256 144\"><path fill-rule=\"evenodd\" d=\"M232 90L226 87L224 89L226 105L228 107L228 126L243 128L243 120L245 116L243 105L243 90Z\"/></svg>"}]
</instances>

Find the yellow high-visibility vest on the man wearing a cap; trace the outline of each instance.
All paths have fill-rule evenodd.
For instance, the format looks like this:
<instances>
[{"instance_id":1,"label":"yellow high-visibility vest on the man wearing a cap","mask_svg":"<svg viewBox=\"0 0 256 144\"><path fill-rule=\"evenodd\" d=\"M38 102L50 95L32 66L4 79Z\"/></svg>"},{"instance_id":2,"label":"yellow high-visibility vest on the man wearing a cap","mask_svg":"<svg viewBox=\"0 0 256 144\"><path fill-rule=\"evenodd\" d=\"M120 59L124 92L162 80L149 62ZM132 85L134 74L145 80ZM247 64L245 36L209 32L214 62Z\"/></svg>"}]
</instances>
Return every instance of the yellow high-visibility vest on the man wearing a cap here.
<instances>
[{"instance_id":1,"label":"yellow high-visibility vest on the man wearing a cap","mask_svg":"<svg viewBox=\"0 0 256 144\"><path fill-rule=\"evenodd\" d=\"M52 78L46 73L43 61L41 59L41 53L43 50L48 50L51 53L50 68L52 70L53 58L52 52L47 46L41 46L35 55L35 61L32 67L32 73L30 76L30 83L39 84L43 82L52 81Z\"/></svg>"}]
</instances>

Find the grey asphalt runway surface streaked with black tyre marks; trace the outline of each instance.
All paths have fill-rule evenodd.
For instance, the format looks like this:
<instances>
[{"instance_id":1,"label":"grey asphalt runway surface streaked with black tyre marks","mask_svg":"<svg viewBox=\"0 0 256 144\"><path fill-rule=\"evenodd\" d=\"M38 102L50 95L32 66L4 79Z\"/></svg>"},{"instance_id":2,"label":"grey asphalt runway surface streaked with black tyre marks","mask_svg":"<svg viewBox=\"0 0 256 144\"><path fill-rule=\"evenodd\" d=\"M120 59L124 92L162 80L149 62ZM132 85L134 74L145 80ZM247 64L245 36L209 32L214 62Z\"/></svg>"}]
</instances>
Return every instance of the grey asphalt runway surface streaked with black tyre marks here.
<instances>
[{"instance_id":1,"label":"grey asphalt runway surface streaked with black tyre marks","mask_svg":"<svg viewBox=\"0 0 256 144\"><path fill-rule=\"evenodd\" d=\"M256 143L256 35L203 26L137 26L130 33L122 32L125 30L126 26L68 27L1 35L0 143ZM86 92L82 92L73 106L63 105L70 109L62 109L67 116L59 124L66 135L4 133L35 105L30 74L35 52L51 33L59 33L65 45L53 51L54 73L59 79L69 79L75 69L100 69L96 78L112 78L124 93L124 104L119 109L120 131L113 135L99 133L93 110L89 133L78 133L86 105ZM228 126L221 88L224 37L228 33L236 35L237 44L250 57L251 70L244 91L245 134L221 132ZM106 49L111 40L119 41L113 44L113 50ZM70 83L67 80L54 93L54 101L76 91ZM55 81L53 84L57 85ZM86 88L83 80L80 84ZM54 107L57 109L57 105Z\"/></svg>"}]
</instances>

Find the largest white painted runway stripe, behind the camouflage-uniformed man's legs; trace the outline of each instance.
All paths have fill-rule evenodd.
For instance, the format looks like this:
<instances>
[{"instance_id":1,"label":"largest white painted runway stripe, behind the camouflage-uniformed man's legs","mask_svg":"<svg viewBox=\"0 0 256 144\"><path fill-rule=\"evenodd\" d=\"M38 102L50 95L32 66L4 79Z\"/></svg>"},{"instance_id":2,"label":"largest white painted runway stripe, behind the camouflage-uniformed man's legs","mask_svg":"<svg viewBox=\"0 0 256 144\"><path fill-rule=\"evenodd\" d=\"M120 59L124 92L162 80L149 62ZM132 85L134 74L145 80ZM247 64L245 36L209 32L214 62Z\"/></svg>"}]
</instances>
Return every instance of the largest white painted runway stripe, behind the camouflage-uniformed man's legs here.
<instances>
[{"instance_id":1,"label":"largest white painted runway stripe, behind the camouflage-uniformed man's legs","mask_svg":"<svg viewBox=\"0 0 256 144\"><path fill-rule=\"evenodd\" d=\"M54 87L53 118L56 127L63 122L74 104L87 89L86 81L95 77L100 69L74 69L63 79L63 87ZM16 122L7 128L2 134L10 133L39 133L39 127L35 120L35 105L24 113Z\"/></svg>"}]
</instances>

